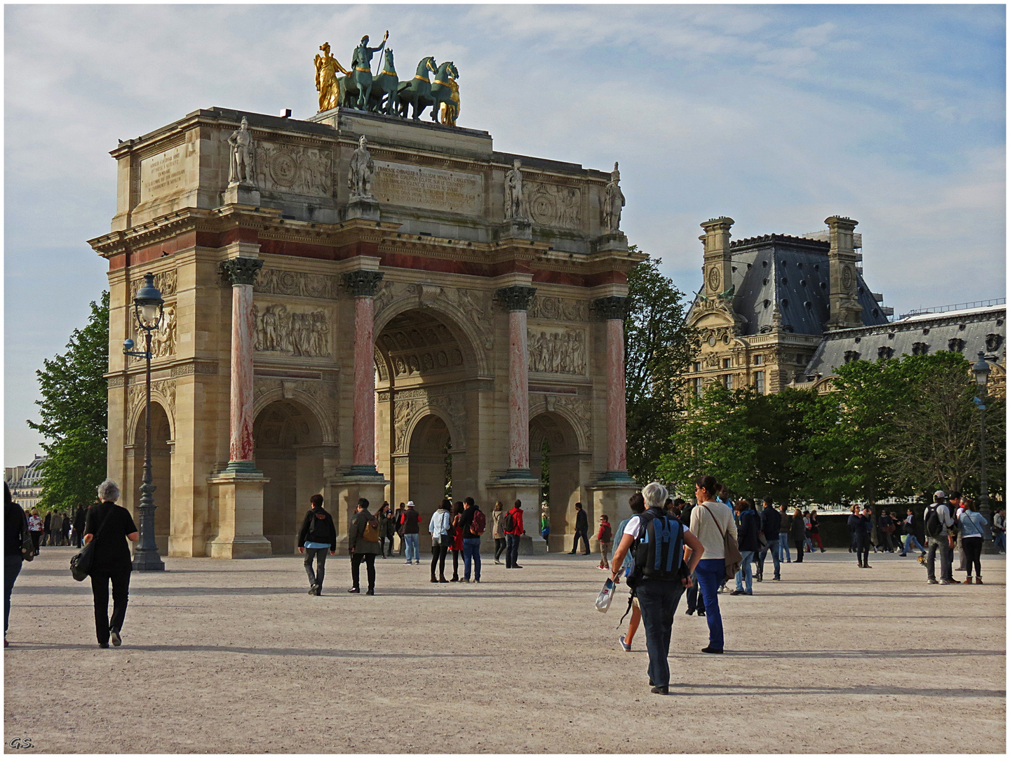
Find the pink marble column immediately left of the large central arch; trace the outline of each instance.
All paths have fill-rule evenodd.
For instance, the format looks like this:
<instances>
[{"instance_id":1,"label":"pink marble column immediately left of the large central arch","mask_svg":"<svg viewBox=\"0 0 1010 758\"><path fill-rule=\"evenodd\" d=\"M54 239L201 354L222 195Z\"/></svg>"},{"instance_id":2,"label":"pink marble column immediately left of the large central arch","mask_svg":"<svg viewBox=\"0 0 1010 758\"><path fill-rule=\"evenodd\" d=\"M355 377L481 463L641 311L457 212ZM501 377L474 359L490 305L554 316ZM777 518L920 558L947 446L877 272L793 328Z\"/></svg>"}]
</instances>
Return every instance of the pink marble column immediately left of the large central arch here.
<instances>
[{"instance_id":1,"label":"pink marble column immediately left of the large central arch","mask_svg":"<svg viewBox=\"0 0 1010 758\"><path fill-rule=\"evenodd\" d=\"M379 476L376 469L375 295L383 273L351 271L343 275L355 297L355 412L350 473Z\"/></svg>"}]
</instances>

